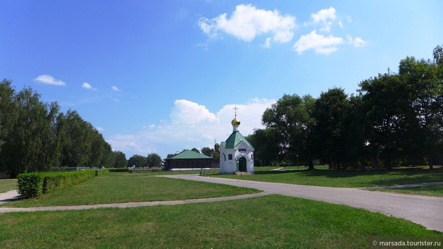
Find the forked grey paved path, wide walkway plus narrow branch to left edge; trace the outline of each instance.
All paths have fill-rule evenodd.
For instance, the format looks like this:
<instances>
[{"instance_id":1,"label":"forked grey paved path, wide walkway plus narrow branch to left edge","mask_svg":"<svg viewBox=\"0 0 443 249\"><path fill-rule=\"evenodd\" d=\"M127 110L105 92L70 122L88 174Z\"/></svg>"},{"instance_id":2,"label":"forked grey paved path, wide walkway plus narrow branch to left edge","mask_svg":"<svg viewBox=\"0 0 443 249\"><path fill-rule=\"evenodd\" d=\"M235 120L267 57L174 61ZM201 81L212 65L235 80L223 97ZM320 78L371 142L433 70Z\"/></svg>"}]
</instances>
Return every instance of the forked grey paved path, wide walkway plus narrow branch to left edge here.
<instances>
[{"instance_id":1,"label":"forked grey paved path, wide walkway plus narrow branch to left edge","mask_svg":"<svg viewBox=\"0 0 443 249\"><path fill-rule=\"evenodd\" d=\"M158 201L158 202L131 202L80 206L54 206L33 208L0 208L0 213L16 211L43 211L43 210L78 210L102 207L137 207L154 205L176 205L185 203L223 201L241 198L250 198L268 194L279 194L304 199L319 200L335 204L344 204L352 207L363 208L386 215L400 217L414 223L421 224L428 229L443 232L443 198L401 195L387 192L366 191L350 188L330 188L321 186L294 185L285 183L247 181L237 179L226 179L217 177L202 177L199 175L167 175L158 177L170 177L185 180L206 181L212 183L229 184L262 190L262 193L241 195L232 197L218 197L207 199L193 199L184 201ZM10 191L11 192L11 191ZM0 194L0 204L16 196L16 193ZM11 196L12 195L12 196ZM6 197L5 197L6 196Z\"/></svg>"}]
</instances>

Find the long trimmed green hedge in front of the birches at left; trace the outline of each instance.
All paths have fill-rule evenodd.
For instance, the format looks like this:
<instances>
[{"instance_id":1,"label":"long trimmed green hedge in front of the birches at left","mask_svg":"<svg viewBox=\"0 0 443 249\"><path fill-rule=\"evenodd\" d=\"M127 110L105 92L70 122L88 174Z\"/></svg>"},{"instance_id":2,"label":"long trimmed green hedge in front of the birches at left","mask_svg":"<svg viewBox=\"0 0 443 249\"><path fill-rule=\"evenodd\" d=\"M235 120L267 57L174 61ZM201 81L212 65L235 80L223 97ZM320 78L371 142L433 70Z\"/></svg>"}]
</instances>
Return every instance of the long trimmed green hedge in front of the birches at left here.
<instances>
[{"instance_id":1,"label":"long trimmed green hedge in front of the birches at left","mask_svg":"<svg viewBox=\"0 0 443 249\"><path fill-rule=\"evenodd\" d=\"M24 173L17 176L18 194L35 198L42 194L62 190L68 186L97 176L97 170L81 170L57 173ZM105 172L103 172L105 173Z\"/></svg>"}]
</instances>

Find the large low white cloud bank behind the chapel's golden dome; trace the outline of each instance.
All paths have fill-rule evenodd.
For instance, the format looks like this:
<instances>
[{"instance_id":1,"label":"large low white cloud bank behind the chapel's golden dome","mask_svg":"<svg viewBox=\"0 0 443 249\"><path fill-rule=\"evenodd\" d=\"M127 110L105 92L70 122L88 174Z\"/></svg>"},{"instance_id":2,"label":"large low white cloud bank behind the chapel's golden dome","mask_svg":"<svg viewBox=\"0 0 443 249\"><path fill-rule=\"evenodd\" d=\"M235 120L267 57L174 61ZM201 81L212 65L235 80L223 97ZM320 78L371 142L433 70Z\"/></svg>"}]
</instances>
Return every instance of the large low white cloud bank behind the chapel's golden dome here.
<instances>
[{"instance_id":1,"label":"large low white cloud bank behind the chapel's golden dome","mask_svg":"<svg viewBox=\"0 0 443 249\"><path fill-rule=\"evenodd\" d=\"M171 109L171 120L161 120L161 125L151 124L149 129L130 135L116 134L106 141L114 150L125 152L129 158L133 154L147 155L158 153L165 158L176 150L202 148L213 146L225 141L232 133L231 120L234 118L234 106L238 108L237 117L240 119L240 132L247 136L255 128L263 128L261 116L267 107L275 100L252 99L246 104L228 104L216 114L198 103L188 100L176 100Z\"/></svg>"}]
</instances>

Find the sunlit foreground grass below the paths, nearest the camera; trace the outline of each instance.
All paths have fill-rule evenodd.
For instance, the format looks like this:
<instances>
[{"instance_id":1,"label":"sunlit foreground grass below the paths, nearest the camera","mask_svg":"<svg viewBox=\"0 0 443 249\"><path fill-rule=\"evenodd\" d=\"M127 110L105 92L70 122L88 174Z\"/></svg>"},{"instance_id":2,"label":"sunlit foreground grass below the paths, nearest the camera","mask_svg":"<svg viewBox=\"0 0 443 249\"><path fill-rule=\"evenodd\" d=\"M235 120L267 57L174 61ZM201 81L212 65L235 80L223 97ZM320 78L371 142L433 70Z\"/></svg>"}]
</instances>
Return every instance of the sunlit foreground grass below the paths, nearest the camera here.
<instances>
[{"instance_id":1,"label":"sunlit foreground grass below the paths, nearest the camera","mask_svg":"<svg viewBox=\"0 0 443 249\"><path fill-rule=\"evenodd\" d=\"M0 214L0 247L367 248L442 233L395 217L278 195L223 202Z\"/></svg>"}]
</instances>

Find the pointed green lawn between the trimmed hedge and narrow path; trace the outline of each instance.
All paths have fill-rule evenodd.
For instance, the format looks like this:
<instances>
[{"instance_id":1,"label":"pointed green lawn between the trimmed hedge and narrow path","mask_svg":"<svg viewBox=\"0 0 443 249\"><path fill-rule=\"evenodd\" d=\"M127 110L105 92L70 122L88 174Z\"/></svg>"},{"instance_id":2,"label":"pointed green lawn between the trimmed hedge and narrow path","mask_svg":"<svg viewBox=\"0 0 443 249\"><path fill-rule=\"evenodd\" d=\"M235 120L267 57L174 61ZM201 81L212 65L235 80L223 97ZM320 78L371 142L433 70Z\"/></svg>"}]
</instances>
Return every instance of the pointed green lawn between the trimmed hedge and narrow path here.
<instances>
[{"instance_id":1,"label":"pointed green lawn between the trimmed hedge and narrow path","mask_svg":"<svg viewBox=\"0 0 443 249\"><path fill-rule=\"evenodd\" d=\"M258 193L259 190L225 184L196 182L143 174L108 173L38 199L8 202L2 206L34 207L168 201Z\"/></svg>"}]
</instances>

